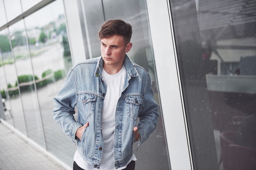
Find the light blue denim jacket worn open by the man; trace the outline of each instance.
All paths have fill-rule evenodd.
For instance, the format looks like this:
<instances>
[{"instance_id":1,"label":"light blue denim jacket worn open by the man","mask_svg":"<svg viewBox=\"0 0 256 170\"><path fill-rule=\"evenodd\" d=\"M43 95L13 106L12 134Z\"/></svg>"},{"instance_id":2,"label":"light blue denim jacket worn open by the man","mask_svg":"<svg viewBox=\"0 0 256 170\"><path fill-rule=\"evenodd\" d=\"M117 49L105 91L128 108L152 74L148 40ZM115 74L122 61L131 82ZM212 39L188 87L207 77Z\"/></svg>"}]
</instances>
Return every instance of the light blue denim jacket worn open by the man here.
<instances>
[{"instance_id":1,"label":"light blue denim jacket worn open by the man","mask_svg":"<svg viewBox=\"0 0 256 170\"><path fill-rule=\"evenodd\" d=\"M115 167L125 166L132 156L132 144L135 140L133 127L141 135L142 144L155 130L157 125L158 105L151 87L151 79L144 68L124 60L126 79L117 102L115 113L114 155ZM101 162L103 137L101 133L101 110L107 92L102 80L102 57L89 59L74 65L67 74L63 88L54 98L54 120L61 126L74 143L85 161L94 168ZM74 107L78 108L77 121L74 119ZM89 126L80 139L75 139L76 130L86 122Z\"/></svg>"}]
</instances>

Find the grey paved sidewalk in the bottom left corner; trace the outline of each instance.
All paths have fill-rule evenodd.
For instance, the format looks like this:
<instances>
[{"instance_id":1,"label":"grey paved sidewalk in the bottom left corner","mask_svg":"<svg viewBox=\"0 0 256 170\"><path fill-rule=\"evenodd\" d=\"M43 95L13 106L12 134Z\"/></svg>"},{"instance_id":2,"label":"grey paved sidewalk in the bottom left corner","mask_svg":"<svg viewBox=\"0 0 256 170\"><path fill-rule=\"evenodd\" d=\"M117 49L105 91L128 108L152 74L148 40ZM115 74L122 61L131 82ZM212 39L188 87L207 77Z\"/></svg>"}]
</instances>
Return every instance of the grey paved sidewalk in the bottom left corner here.
<instances>
[{"instance_id":1,"label":"grey paved sidewalk in the bottom left corner","mask_svg":"<svg viewBox=\"0 0 256 170\"><path fill-rule=\"evenodd\" d=\"M0 122L0 170L64 170Z\"/></svg>"}]
</instances>

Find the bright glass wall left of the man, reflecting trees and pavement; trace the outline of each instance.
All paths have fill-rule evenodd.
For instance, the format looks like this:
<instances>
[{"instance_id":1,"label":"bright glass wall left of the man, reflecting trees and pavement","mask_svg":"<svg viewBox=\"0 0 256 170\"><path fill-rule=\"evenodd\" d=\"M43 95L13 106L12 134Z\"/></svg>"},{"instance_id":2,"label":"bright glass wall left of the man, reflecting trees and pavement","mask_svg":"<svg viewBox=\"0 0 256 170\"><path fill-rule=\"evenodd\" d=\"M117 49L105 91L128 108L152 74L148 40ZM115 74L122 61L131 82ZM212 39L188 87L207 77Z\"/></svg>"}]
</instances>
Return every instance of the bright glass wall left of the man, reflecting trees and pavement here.
<instances>
[{"instance_id":1,"label":"bright glass wall left of the man, reflecting trees and pavement","mask_svg":"<svg viewBox=\"0 0 256 170\"><path fill-rule=\"evenodd\" d=\"M10 3L4 1L6 11ZM0 31L0 89L5 120L71 166L76 148L52 117L53 97L72 67L64 14L57 0Z\"/></svg>"}]
</instances>

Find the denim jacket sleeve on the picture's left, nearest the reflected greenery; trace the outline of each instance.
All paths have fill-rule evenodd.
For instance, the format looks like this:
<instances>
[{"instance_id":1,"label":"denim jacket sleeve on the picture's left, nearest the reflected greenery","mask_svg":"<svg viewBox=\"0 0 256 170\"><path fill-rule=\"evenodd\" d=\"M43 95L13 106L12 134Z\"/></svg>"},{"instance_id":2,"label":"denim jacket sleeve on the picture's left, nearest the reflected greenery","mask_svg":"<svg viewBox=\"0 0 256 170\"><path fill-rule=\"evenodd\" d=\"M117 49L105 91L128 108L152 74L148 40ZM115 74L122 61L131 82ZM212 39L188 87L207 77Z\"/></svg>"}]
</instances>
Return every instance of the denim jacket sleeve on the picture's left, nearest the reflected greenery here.
<instances>
[{"instance_id":1,"label":"denim jacket sleeve on the picture's left, nearest the reflected greenery","mask_svg":"<svg viewBox=\"0 0 256 170\"><path fill-rule=\"evenodd\" d=\"M62 89L56 97L54 97L54 110L52 112L55 122L57 122L64 133L71 137L75 143L76 131L83 126L74 119L74 106L77 102L76 80L72 70L67 74L67 78Z\"/></svg>"}]
</instances>

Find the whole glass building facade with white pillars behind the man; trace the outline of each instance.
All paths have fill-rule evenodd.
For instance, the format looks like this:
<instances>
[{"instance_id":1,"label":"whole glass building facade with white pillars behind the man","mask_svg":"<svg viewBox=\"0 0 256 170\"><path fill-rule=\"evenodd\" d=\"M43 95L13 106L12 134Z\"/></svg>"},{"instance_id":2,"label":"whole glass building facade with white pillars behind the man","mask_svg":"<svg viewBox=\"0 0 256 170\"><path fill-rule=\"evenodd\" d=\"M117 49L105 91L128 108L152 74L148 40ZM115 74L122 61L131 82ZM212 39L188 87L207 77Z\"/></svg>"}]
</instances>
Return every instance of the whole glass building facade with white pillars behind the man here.
<instances>
[{"instance_id":1,"label":"whole glass building facade with white pillars behind the man","mask_svg":"<svg viewBox=\"0 0 256 170\"><path fill-rule=\"evenodd\" d=\"M81 35L68 25L69 3L0 0L2 119L72 167L76 146L53 120L53 98L81 59L72 50L100 56L99 27L122 19L133 28L128 56L150 73L160 113L157 129L134 148L136 169L176 169L177 162L195 170L255 169L255 0L77 0ZM83 43L75 44L74 34ZM174 162L176 155L191 162Z\"/></svg>"}]
</instances>

